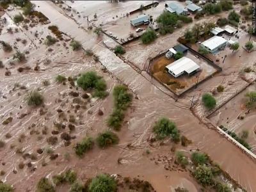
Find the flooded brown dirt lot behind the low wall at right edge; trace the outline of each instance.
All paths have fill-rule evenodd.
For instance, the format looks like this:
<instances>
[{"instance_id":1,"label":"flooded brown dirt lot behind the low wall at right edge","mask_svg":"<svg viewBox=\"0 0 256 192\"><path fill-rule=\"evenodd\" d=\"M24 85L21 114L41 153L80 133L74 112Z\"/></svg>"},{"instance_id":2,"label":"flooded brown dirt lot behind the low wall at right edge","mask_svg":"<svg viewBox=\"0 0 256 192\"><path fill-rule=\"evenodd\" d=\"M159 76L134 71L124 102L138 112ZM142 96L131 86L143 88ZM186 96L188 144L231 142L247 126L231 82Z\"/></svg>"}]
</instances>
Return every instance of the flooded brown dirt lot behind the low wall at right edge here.
<instances>
[{"instance_id":1,"label":"flooded brown dirt lot behind the low wall at right edge","mask_svg":"<svg viewBox=\"0 0 256 192\"><path fill-rule=\"evenodd\" d=\"M209 119L214 122L214 124L220 126L223 125L227 127L229 131L236 132L237 135L241 136L242 131L248 131L249 136L246 138L246 141L252 147L252 152L255 153L256 140L255 140L255 109L246 108L245 94L248 92L255 92L255 84L248 86L246 90L239 93L234 99L230 100L222 106L218 111L209 116ZM249 111L249 113L248 113ZM243 116L243 120L240 117Z\"/></svg>"}]
</instances>

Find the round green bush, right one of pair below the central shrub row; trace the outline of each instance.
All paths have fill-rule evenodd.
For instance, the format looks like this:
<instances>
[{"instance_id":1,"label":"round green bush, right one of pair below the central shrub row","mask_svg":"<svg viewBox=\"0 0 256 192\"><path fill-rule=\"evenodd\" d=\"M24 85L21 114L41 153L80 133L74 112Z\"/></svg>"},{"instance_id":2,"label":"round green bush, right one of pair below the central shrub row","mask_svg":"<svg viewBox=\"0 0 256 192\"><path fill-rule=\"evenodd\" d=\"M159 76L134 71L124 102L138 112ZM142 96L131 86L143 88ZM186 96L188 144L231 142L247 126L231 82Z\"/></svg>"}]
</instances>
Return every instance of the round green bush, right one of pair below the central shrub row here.
<instances>
[{"instance_id":1,"label":"round green bush, right one of pair below the central shrub row","mask_svg":"<svg viewBox=\"0 0 256 192\"><path fill-rule=\"evenodd\" d=\"M118 143L118 141L118 136L111 131L104 131L97 136L97 144L100 148L115 145Z\"/></svg>"}]
</instances>

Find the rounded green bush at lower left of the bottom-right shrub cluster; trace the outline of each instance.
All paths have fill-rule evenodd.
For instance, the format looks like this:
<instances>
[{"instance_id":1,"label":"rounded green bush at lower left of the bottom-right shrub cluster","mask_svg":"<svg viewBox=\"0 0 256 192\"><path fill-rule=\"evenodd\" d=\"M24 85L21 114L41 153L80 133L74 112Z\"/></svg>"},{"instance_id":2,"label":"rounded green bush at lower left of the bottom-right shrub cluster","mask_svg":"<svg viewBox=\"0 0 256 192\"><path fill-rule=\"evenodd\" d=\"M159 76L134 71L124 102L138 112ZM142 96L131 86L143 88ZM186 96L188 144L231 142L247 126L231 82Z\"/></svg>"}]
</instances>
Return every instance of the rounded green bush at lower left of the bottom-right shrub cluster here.
<instances>
[{"instance_id":1,"label":"rounded green bush at lower left of the bottom-right shrub cluster","mask_svg":"<svg viewBox=\"0 0 256 192\"><path fill-rule=\"evenodd\" d=\"M211 168L207 167L205 164L200 164L196 167L193 173L194 177L202 186L210 186L213 182L213 174Z\"/></svg>"}]
</instances>

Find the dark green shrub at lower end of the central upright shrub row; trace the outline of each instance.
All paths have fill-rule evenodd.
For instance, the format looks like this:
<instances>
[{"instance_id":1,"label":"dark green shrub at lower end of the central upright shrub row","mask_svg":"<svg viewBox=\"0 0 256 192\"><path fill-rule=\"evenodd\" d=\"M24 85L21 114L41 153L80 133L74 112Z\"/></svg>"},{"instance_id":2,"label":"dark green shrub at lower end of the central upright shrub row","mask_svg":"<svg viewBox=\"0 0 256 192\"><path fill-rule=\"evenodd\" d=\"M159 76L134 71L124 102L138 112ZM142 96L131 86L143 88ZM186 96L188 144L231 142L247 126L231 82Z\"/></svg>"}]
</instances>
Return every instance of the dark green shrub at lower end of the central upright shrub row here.
<instances>
[{"instance_id":1,"label":"dark green shrub at lower end of the central upright shrub row","mask_svg":"<svg viewBox=\"0 0 256 192\"><path fill-rule=\"evenodd\" d=\"M120 109L114 109L113 113L108 118L108 126L116 131L119 131L124 120L124 113Z\"/></svg>"}]
</instances>

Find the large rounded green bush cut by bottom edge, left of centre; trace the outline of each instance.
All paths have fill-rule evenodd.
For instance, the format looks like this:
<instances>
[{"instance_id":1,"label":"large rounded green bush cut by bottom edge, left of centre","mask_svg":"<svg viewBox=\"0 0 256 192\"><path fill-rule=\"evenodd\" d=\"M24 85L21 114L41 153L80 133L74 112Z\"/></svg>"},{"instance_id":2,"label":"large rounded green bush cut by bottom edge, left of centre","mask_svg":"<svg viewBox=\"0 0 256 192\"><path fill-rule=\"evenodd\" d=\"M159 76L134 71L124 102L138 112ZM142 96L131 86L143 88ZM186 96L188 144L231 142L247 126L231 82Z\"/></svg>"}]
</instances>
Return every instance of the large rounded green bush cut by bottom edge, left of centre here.
<instances>
[{"instance_id":1,"label":"large rounded green bush cut by bottom edge, left of centre","mask_svg":"<svg viewBox=\"0 0 256 192\"><path fill-rule=\"evenodd\" d=\"M100 174L92 179L89 185L89 192L115 192L117 191L117 184L113 177Z\"/></svg>"}]
</instances>

